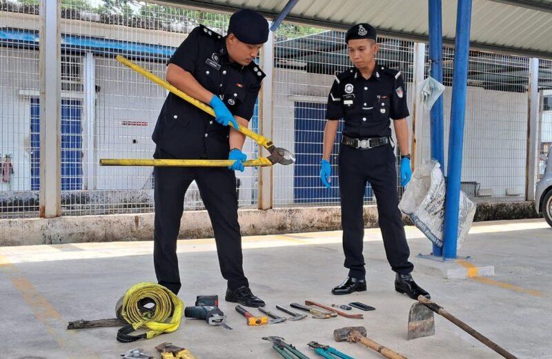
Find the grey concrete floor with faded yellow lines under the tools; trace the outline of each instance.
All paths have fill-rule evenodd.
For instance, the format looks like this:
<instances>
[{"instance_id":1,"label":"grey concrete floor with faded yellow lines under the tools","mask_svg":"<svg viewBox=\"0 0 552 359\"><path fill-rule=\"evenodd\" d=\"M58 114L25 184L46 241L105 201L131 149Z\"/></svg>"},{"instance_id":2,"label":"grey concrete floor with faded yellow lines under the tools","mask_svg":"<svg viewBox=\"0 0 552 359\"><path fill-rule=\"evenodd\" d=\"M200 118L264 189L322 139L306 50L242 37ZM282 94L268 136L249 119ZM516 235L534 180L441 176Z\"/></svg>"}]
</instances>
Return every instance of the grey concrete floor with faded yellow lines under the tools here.
<instances>
[{"instance_id":1,"label":"grey concrete floor with faded yellow lines under the tools","mask_svg":"<svg viewBox=\"0 0 552 359\"><path fill-rule=\"evenodd\" d=\"M544 220L477 223L460 250L474 263L494 265L496 276L446 280L431 270L430 243L406 228L415 279L452 314L495 340L518 358L552 358L552 229ZM179 242L183 287L180 298L193 305L197 294L219 294L213 240ZM121 344L117 329L67 331L70 320L111 318L117 299L132 284L155 280L151 242L82 243L0 248L0 358L119 358L140 347L159 358L155 345L173 342L197 358L279 358L262 336L282 336L311 358L306 343L316 340L354 358L382 358L359 344L335 343L333 329L364 325L368 336L408 358L497 358L497 354L436 316L436 334L406 340L413 303L393 290L379 229L367 229L364 254L370 265L368 291L346 297L330 289L346 276L341 232L244 237L245 269L255 294L268 308L306 299L326 304L360 301L376 308L364 320L332 318L247 327L234 305L221 300L233 331L183 320L179 330L151 340ZM253 312L256 312L254 309ZM353 311L359 313L360 311ZM257 312L258 313L258 312Z\"/></svg>"}]
</instances>

